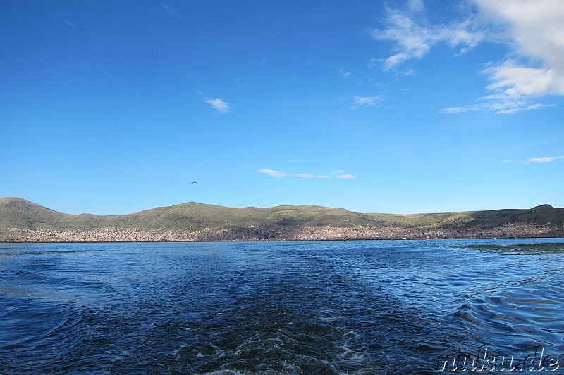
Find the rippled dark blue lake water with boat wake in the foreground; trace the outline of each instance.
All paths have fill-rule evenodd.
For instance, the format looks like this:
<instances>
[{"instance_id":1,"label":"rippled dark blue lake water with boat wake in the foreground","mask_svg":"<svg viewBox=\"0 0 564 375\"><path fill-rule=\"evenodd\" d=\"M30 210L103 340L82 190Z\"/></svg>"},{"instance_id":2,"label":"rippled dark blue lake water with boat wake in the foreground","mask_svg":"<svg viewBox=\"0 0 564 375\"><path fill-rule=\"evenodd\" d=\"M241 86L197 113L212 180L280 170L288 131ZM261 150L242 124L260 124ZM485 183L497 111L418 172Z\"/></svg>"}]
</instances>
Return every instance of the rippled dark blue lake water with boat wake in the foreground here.
<instances>
[{"instance_id":1,"label":"rippled dark blue lake water with boat wake in the foreground","mask_svg":"<svg viewBox=\"0 0 564 375\"><path fill-rule=\"evenodd\" d=\"M563 269L564 239L4 243L0 374L562 374Z\"/></svg>"}]
</instances>

